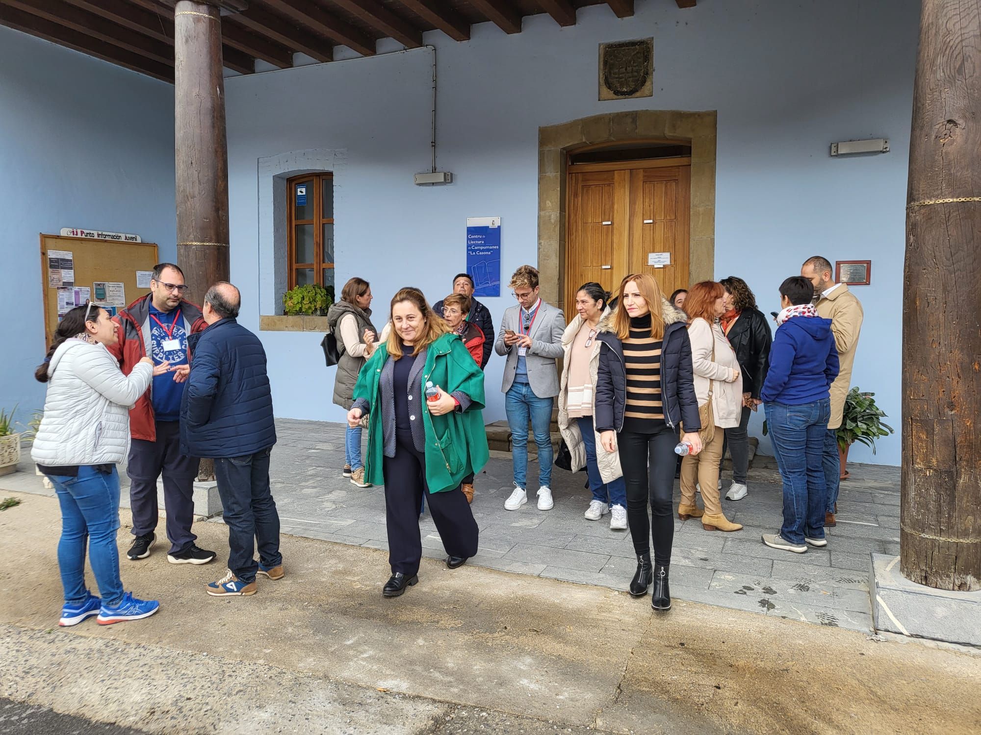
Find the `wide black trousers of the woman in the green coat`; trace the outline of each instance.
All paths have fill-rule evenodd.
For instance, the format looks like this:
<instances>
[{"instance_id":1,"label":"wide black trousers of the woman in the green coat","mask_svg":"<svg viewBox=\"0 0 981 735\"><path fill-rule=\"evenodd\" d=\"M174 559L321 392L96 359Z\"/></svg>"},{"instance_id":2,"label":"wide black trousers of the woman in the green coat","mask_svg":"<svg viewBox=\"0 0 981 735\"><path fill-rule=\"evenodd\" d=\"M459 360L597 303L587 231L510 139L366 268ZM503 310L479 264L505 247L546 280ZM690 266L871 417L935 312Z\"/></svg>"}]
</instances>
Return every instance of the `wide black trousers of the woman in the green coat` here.
<instances>
[{"instance_id":1,"label":"wide black trousers of the woman in the green coat","mask_svg":"<svg viewBox=\"0 0 981 735\"><path fill-rule=\"evenodd\" d=\"M385 522L388 528L388 564L391 572L411 577L419 571L423 545L419 537L419 509L426 502L451 557L477 554L477 521L459 487L431 493L426 484L426 455L416 451L412 437L399 432L395 456L385 458Z\"/></svg>"}]
</instances>

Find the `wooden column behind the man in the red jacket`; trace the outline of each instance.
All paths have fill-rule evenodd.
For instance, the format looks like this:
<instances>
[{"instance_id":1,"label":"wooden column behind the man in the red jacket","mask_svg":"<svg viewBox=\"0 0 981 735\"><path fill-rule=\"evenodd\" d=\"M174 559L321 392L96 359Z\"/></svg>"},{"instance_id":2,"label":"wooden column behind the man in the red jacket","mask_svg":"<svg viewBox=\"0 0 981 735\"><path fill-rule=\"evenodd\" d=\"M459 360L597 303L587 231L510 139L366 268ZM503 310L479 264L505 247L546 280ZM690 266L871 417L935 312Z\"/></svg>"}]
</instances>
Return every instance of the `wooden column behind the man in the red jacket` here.
<instances>
[{"instance_id":1,"label":"wooden column behind the man in the red jacket","mask_svg":"<svg viewBox=\"0 0 981 735\"><path fill-rule=\"evenodd\" d=\"M187 298L229 279L229 160L225 137L222 21L217 3L174 8L174 109L178 265Z\"/></svg>"}]
</instances>

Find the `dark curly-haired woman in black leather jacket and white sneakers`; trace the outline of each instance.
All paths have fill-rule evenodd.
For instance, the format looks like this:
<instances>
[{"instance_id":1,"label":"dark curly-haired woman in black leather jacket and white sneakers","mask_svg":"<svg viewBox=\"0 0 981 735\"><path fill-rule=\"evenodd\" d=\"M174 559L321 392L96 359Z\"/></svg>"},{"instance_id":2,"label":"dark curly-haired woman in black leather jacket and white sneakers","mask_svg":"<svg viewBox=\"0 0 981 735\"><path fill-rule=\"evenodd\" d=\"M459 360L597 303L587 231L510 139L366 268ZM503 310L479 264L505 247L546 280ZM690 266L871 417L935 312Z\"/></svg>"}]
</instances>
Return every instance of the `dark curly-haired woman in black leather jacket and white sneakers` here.
<instances>
[{"instance_id":1,"label":"dark curly-haired woman in black leather jacket and white sneakers","mask_svg":"<svg viewBox=\"0 0 981 735\"><path fill-rule=\"evenodd\" d=\"M726 429L725 447L733 458L733 484L726 493L727 500L742 500L747 495L746 473L749 469L749 413L761 403L759 392L766 380L769 366L770 345L773 334L762 312L756 309L756 297L746 281L735 275L720 281L726 289L726 313L722 316L722 328L729 343L736 351L743 372L743 416L739 426Z\"/></svg>"}]
</instances>

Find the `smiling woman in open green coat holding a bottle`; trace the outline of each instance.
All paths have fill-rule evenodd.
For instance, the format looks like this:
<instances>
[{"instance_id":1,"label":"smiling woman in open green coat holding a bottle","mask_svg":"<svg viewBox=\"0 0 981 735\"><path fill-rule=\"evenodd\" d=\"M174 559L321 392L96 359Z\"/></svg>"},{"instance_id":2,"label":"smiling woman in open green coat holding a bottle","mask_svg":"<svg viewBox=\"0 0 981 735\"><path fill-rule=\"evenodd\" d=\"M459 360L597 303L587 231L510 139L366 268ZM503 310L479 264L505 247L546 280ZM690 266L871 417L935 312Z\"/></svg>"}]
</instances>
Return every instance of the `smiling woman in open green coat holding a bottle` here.
<instances>
[{"instance_id":1,"label":"smiling woman in open green coat holding a bottle","mask_svg":"<svg viewBox=\"0 0 981 735\"><path fill-rule=\"evenodd\" d=\"M455 569L477 553L477 521L460 489L489 458L484 373L417 288L391 300L391 328L361 368L349 426L368 415L365 480L385 485L388 564L382 594L397 597L419 581L419 508L430 512ZM426 400L426 384L439 395ZM391 481L386 481L390 478Z\"/></svg>"}]
</instances>

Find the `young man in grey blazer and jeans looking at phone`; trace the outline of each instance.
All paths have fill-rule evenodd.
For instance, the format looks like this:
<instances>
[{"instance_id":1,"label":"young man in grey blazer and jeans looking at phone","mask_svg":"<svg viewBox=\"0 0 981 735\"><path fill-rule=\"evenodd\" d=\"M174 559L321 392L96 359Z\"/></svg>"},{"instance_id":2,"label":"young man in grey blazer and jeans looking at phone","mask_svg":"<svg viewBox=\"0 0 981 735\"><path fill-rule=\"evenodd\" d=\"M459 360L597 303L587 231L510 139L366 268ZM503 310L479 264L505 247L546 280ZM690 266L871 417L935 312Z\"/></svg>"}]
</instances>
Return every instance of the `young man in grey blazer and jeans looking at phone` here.
<instances>
[{"instance_id":1,"label":"young man in grey blazer and jeans looking at phone","mask_svg":"<svg viewBox=\"0 0 981 735\"><path fill-rule=\"evenodd\" d=\"M558 395L556 358L562 357L562 310L539 298L539 271L522 266L511 276L518 305L504 312L494 352L507 357L504 366L504 409L511 429L514 492L504 508L517 511L528 502L528 422L539 447L539 510L551 509L552 448L548 428L552 401Z\"/></svg>"}]
</instances>

